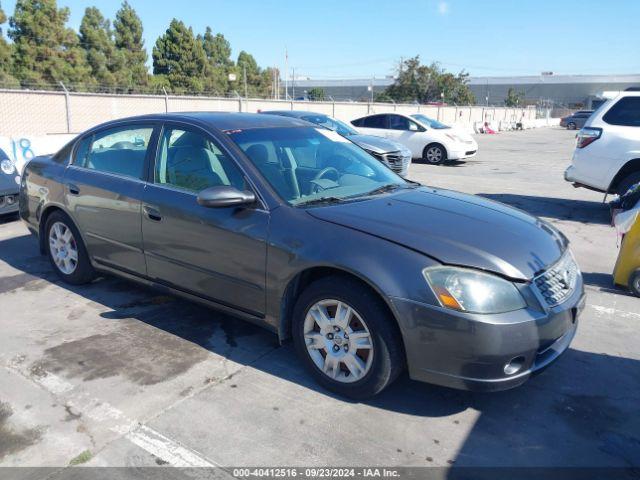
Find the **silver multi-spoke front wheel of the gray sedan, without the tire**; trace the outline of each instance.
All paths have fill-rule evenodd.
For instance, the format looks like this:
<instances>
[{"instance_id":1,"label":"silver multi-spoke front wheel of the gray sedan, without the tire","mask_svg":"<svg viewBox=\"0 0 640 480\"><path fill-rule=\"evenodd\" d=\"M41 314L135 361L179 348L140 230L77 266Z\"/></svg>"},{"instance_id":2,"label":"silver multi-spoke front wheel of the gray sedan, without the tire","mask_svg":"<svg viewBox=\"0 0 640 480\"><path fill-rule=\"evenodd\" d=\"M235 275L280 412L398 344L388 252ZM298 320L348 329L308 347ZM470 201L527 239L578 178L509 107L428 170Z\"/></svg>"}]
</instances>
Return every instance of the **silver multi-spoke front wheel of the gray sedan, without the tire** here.
<instances>
[{"instance_id":1,"label":"silver multi-spoke front wheel of the gray sedan, without the tire","mask_svg":"<svg viewBox=\"0 0 640 480\"><path fill-rule=\"evenodd\" d=\"M304 320L304 339L313 363L332 380L357 382L371 370L371 333L345 302L326 299L311 306Z\"/></svg>"}]
</instances>

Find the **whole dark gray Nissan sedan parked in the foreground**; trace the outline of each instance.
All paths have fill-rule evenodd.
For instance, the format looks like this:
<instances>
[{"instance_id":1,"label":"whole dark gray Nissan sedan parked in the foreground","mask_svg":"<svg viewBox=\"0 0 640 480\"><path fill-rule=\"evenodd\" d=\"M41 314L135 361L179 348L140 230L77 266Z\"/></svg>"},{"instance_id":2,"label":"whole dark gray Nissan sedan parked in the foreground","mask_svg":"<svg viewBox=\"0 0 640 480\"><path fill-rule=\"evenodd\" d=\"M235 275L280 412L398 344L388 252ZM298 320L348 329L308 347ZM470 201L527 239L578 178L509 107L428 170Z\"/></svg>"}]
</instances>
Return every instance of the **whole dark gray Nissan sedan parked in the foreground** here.
<instances>
[{"instance_id":1,"label":"whole dark gray Nissan sedan parked in the foreground","mask_svg":"<svg viewBox=\"0 0 640 480\"><path fill-rule=\"evenodd\" d=\"M584 305L550 224L405 181L294 118L105 123L29 162L19 206L63 280L116 274L258 323L353 398L405 367L449 387L518 386L568 348Z\"/></svg>"}]
</instances>

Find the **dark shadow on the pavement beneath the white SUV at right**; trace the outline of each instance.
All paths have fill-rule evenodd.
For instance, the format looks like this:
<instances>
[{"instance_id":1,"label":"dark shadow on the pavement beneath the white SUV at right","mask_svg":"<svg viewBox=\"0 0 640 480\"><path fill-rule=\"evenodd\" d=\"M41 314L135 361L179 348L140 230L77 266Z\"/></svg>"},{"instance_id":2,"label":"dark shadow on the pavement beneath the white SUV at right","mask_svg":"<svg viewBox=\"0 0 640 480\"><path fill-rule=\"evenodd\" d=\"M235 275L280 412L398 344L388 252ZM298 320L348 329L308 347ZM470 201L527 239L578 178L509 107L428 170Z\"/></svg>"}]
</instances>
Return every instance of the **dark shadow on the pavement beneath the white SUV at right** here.
<instances>
[{"instance_id":1,"label":"dark shadow on the pavement beneath the white SUV at right","mask_svg":"<svg viewBox=\"0 0 640 480\"><path fill-rule=\"evenodd\" d=\"M512 193L479 193L481 197L506 203L537 217L571 220L581 223L609 225L609 206L602 202L571 200L567 198L535 197Z\"/></svg>"}]
</instances>

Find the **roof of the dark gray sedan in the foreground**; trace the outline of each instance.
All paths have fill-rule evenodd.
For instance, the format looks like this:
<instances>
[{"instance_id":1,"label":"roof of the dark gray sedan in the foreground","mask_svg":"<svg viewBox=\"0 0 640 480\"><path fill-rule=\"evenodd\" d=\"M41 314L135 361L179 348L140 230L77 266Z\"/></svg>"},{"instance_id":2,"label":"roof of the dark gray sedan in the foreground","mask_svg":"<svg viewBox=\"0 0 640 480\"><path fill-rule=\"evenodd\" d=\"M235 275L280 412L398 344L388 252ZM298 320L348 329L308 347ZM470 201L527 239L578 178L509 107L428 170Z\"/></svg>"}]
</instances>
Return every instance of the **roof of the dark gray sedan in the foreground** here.
<instances>
[{"instance_id":1,"label":"roof of the dark gray sedan in the foreground","mask_svg":"<svg viewBox=\"0 0 640 480\"><path fill-rule=\"evenodd\" d=\"M284 128L284 127L308 127L309 124L297 118L283 117L280 115L264 115L258 113L240 112L170 112L150 115L138 115L135 117L120 118L103 123L100 127L127 121L194 121L215 129L225 130L249 130L254 128Z\"/></svg>"}]
</instances>

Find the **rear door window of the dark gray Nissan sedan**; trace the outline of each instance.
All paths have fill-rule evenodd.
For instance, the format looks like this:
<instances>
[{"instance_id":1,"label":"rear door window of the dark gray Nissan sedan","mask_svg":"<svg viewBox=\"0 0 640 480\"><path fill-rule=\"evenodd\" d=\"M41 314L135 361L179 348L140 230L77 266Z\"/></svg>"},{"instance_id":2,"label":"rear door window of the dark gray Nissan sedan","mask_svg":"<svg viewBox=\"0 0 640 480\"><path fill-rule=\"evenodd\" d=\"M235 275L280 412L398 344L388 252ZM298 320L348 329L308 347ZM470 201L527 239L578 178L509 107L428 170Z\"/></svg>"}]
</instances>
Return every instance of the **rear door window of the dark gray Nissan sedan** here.
<instances>
[{"instance_id":1,"label":"rear door window of the dark gray Nissan sedan","mask_svg":"<svg viewBox=\"0 0 640 480\"><path fill-rule=\"evenodd\" d=\"M142 179L152 126L116 127L80 141L74 164L90 170Z\"/></svg>"}]
</instances>

